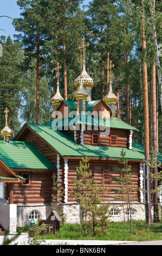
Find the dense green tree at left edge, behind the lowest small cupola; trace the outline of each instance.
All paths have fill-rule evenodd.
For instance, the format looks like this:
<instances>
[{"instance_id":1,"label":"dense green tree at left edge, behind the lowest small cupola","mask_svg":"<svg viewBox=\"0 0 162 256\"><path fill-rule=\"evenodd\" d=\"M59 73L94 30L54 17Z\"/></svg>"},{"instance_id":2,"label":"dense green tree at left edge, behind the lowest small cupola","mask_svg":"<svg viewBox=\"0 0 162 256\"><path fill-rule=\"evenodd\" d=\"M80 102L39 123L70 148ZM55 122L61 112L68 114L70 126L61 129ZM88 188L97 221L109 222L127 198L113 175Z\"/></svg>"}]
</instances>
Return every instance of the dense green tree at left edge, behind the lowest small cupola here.
<instances>
[{"instance_id":1,"label":"dense green tree at left edge, behind the lowest small cupola","mask_svg":"<svg viewBox=\"0 0 162 256\"><path fill-rule=\"evenodd\" d=\"M18 114L21 104L20 91L22 88L22 72L20 65L22 63L23 54L20 49L20 44L12 42L10 36L8 36L7 39L1 36L1 44L3 45L3 56L0 58L1 127L4 127L5 124L4 109L8 107L8 125L16 132L20 129Z\"/></svg>"}]
</instances>

